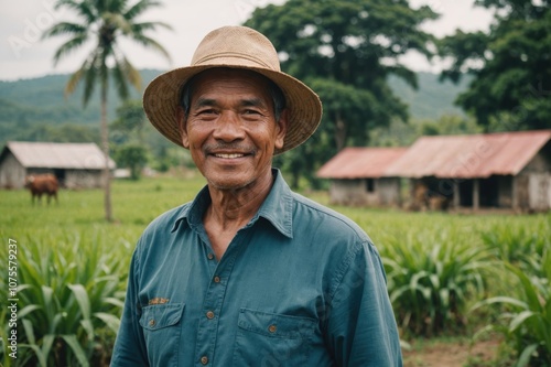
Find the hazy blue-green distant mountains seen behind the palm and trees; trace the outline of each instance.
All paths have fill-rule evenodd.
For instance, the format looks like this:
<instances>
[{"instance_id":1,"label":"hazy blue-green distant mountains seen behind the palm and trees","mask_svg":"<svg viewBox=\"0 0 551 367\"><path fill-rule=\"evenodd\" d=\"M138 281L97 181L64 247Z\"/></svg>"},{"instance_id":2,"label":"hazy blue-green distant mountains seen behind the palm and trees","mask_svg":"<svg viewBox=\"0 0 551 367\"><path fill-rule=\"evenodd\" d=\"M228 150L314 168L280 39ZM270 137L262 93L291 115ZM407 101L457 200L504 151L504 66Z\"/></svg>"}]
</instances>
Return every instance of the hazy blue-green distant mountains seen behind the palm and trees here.
<instances>
[{"instance_id":1,"label":"hazy blue-green distant mountains seen behind the palm and trees","mask_svg":"<svg viewBox=\"0 0 551 367\"><path fill-rule=\"evenodd\" d=\"M155 69L143 69L142 85L148 85L156 75ZM83 109L82 86L75 94L64 97L68 75L48 75L40 78L0 82L0 143L17 140L21 129L42 125L77 123L97 127L99 122L99 97L95 93ZM467 80L458 85L440 83L437 75L419 73L419 89L413 90L397 77L389 84L396 95L410 106L412 119L436 119L442 115L462 114L453 106L458 93L465 90ZM132 89L132 98L141 93ZM109 90L108 118L115 119L120 98L114 87Z\"/></svg>"}]
</instances>

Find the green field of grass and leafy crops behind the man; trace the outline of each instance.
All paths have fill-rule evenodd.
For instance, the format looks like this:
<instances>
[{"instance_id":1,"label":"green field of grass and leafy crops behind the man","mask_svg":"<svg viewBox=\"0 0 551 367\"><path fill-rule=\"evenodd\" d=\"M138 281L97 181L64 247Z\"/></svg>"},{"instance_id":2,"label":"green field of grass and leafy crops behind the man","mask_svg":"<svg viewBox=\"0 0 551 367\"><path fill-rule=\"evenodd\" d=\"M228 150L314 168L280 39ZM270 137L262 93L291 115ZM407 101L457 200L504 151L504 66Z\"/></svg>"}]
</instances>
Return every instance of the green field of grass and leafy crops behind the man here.
<instances>
[{"instance_id":1,"label":"green field of grass and leafy crops behind the man","mask_svg":"<svg viewBox=\"0 0 551 367\"><path fill-rule=\"evenodd\" d=\"M18 247L20 287L18 359L4 354L0 361L107 365L138 237L204 183L196 174L115 181L112 224L104 220L100 190L61 191L60 203L50 206L31 205L25 191L0 191L0 288L8 292L10 239ZM328 203L326 193L306 196ZM509 343L507 358L525 353L533 366L545 366L538 360L551 353L550 214L334 208L357 222L379 248L404 346L418 336L474 335L488 324ZM494 302L495 296L504 299ZM501 302L505 296L518 302ZM3 305L2 312L6 341L10 315ZM516 328L506 331L516 316ZM533 330L538 325L541 335Z\"/></svg>"}]
</instances>

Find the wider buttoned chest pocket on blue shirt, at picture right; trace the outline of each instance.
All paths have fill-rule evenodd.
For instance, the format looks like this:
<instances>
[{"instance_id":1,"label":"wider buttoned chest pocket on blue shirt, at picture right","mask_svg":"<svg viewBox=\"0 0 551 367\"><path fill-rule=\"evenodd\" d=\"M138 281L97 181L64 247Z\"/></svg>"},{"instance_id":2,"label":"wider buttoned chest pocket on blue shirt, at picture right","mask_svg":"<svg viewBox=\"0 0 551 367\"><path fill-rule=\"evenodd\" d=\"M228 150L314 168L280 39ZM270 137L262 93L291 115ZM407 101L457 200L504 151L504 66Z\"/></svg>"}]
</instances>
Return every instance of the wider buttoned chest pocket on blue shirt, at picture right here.
<instances>
[{"instance_id":1,"label":"wider buttoned chest pocket on blue shirt, at picture right","mask_svg":"<svg viewBox=\"0 0 551 367\"><path fill-rule=\"evenodd\" d=\"M234 366L306 366L315 320L241 309Z\"/></svg>"}]
</instances>

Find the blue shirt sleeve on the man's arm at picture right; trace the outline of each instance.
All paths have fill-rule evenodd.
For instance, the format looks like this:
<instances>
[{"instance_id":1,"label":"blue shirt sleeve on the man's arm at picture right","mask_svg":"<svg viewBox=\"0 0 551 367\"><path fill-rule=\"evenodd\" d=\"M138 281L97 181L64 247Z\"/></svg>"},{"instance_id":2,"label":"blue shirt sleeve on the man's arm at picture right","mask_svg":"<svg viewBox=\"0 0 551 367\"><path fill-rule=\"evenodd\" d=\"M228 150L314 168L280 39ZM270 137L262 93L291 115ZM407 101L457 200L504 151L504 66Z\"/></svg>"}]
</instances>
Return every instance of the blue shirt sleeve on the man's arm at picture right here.
<instances>
[{"instance_id":1,"label":"blue shirt sleeve on the man's arm at picture right","mask_svg":"<svg viewBox=\"0 0 551 367\"><path fill-rule=\"evenodd\" d=\"M402 366L385 269L374 245L355 247L337 274L326 343L338 366Z\"/></svg>"}]
</instances>

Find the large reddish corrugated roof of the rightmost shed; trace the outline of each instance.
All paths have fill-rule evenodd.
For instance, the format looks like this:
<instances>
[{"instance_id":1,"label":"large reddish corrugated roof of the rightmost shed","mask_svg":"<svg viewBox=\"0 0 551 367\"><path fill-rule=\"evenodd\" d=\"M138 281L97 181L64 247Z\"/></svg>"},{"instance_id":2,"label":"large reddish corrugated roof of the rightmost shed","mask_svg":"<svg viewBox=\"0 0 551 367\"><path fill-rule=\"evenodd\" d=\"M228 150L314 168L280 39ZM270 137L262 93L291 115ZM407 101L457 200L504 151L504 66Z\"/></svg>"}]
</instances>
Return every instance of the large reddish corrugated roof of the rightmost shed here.
<instances>
[{"instance_id":1,"label":"large reddish corrugated roof of the rightmost shed","mask_svg":"<svg viewBox=\"0 0 551 367\"><path fill-rule=\"evenodd\" d=\"M516 175L551 140L551 130L419 138L386 176L476 179Z\"/></svg>"}]
</instances>

